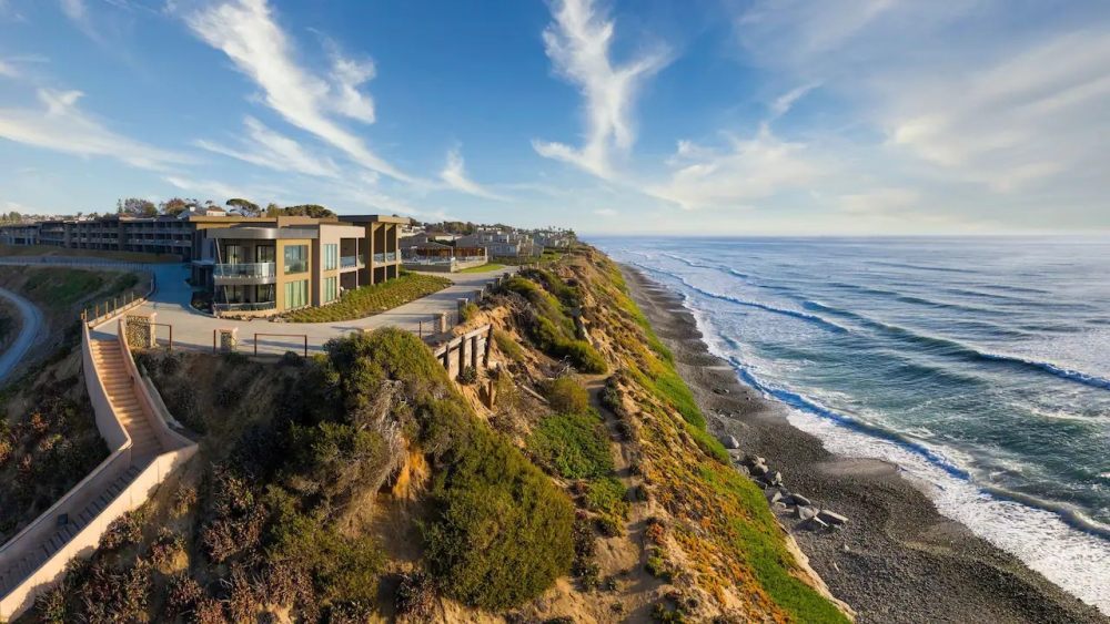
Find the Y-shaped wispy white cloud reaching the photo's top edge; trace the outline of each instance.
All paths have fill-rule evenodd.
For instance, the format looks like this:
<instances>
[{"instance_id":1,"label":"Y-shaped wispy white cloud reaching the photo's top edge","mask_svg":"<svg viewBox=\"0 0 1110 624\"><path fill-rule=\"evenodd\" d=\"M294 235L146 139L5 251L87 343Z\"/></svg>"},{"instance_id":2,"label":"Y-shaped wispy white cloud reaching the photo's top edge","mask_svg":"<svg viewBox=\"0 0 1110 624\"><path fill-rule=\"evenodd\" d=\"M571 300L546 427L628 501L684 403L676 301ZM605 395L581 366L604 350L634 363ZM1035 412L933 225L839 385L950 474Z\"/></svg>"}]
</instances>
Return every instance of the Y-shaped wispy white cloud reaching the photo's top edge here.
<instances>
[{"instance_id":1,"label":"Y-shaped wispy white cloud reaching the photo's top edge","mask_svg":"<svg viewBox=\"0 0 1110 624\"><path fill-rule=\"evenodd\" d=\"M665 53L643 54L625 64L609 59L614 22L593 0L559 0L555 22L544 31L556 73L585 98L586 142L581 149L535 140L542 156L574 164L604 178L614 176L610 152L627 152L635 141L632 109L640 83L664 65Z\"/></svg>"}]
</instances>

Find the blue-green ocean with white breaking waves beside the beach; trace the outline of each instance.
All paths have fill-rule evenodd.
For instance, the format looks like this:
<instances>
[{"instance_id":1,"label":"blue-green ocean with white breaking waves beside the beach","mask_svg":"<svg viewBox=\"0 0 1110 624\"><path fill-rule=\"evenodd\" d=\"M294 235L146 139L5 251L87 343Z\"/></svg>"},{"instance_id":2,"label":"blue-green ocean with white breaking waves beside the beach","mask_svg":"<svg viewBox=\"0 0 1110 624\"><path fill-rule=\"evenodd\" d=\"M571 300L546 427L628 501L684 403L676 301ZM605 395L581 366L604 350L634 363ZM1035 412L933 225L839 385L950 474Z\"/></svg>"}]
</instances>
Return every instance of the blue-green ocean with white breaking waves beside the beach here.
<instances>
[{"instance_id":1,"label":"blue-green ocean with white breaking waves beside the beach","mask_svg":"<svg viewBox=\"0 0 1110 624\"><path fill-rule=\"evenodd\" d=\"M1110 238L596 238L835 452L1110 613Z\"/></svg>"}]
</instances>

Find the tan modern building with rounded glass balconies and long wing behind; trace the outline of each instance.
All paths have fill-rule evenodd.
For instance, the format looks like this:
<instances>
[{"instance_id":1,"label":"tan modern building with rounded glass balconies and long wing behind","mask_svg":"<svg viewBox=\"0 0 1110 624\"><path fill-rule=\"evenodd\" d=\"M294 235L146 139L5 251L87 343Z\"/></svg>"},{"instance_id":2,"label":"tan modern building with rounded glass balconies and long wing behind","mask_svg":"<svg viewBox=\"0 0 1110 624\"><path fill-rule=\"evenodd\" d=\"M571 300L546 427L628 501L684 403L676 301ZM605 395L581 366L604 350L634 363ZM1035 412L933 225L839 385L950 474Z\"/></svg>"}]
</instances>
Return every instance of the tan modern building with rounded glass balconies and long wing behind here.
<instances>
[{"instance_id":1,"label":"tan modern building with rounded glass balconies and long wing behind","mask_svg":"<svg viewBox=\"0 0 1110 624\"><path fill-rule=\"evenodd\" d=\"M342 221L340 221L342 218ZM384 215L246 217L205 207L180 216L68 218L0 227L0 243L180 256L218 313L323 306L401 273L401 227Z\"/></svg>"}]
</instances>

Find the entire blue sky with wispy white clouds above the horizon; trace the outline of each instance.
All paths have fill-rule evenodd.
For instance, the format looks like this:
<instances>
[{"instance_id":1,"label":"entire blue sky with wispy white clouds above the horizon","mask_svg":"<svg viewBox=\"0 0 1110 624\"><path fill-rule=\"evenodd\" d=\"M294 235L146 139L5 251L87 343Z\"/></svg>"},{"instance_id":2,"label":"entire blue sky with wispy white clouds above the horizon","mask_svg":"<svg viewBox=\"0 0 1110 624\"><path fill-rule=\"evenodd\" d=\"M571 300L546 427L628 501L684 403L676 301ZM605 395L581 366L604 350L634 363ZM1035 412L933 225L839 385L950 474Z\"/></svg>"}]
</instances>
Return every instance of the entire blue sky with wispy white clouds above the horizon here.
<instances>
[{"instance_id":1,"label":"entire blue sky with wispy white clouds above the horizon","mask_svg":"<svg viewBox=\"0 0 1110 624\"><path fill-rule=\"evenodd\" d=\"M1104 0L0 0L0 209L1110 233Z\"/></svg>"}]
</instances>

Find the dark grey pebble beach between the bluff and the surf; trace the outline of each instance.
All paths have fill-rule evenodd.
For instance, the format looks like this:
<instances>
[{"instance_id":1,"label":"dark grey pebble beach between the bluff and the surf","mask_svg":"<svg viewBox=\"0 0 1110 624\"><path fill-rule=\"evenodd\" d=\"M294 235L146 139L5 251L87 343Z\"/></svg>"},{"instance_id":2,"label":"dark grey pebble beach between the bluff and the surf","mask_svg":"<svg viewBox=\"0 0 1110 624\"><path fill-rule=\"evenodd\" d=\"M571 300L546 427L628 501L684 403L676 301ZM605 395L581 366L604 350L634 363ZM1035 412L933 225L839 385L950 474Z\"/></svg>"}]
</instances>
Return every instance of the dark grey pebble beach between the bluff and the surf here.
<instances>
[{"instance_id":1,"label":"dark grey pebble beach between the bluff and the surf","mask_svg":"<svg viewBox=\"0 0 1110 624\"><path fill-rule=\"evenodd\" d=\"M633 299L674 352L710 431L734 436L740 457L767 458L791 491L848 518L835 532L811 531L776 510L809 565L859 622L1110 622L941 515L898 467L836 456L797 429L784 406L743 385L731 365L709 352L676 293L620 267Z\"/></svg>"}]
</instances>

